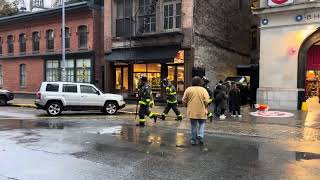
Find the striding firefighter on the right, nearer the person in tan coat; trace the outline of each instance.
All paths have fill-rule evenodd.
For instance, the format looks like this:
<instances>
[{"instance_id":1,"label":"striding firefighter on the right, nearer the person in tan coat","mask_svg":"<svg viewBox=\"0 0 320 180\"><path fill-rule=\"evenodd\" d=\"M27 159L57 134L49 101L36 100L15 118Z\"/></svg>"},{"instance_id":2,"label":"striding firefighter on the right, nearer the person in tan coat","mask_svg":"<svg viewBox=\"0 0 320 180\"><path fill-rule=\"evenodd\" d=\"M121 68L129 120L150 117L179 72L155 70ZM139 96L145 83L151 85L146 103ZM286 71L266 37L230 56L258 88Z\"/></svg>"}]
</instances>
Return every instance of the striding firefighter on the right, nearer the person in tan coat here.
<instances>
[{"instance_id":1,"label":"striding firefighter on the right, nearer the person in tan coat","mask_svg":"<svg viewBox=\"0 0 320 180\"><path fill-rule=\"evenodd\" d=\"M172 110L176 113L177 118L176 121L182 120L182 114L180 113L178 109L178 99L177 99L177 90L174 87L174 85L171 84L171 82L168 80L168 78L164 78L161 81L161 86L166 89L166 98L167 98L167 104L166 107L162 113L161 119L165 120L166 116L168 115L168 112L172 108Z\"/></svg>"}]
</instances>

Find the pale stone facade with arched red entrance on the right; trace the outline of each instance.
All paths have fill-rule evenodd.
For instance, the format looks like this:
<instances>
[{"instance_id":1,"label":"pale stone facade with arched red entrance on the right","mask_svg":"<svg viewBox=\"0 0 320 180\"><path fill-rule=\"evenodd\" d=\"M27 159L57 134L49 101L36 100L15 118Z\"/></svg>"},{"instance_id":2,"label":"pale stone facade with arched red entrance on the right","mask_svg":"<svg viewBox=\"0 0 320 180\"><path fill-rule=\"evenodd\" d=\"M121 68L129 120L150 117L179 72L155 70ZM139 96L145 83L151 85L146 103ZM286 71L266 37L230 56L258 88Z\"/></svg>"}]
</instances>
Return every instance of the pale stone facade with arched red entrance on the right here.
<instances>
[{"instance_id":1,"label":"pale stone facade with arched red entrance on the right","mask_svg":"<svg viewBox=\"0 0 320 180\"><path fill-rule=\"evenodd\" d=\"M319 7L310 0L258 1L259 103L296 110L307 97L319 96Z\"/></svg>"}]
</instances>

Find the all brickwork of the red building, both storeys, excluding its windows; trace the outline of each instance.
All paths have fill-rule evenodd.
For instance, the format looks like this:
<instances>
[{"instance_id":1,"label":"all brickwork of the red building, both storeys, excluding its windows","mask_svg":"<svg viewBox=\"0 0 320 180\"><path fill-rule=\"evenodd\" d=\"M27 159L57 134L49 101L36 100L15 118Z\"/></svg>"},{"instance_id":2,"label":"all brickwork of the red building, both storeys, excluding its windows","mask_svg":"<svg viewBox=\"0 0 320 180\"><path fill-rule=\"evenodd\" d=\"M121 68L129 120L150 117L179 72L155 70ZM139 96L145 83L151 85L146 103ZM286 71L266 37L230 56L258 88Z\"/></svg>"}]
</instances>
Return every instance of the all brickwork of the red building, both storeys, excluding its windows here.
<instances>
[{"instance_id":1,"label":"all brickwork of the red building, both storeys, excluding its windows","mask_svg":"<svg viewBox=\"0 0 320 180\"><path fill-rule=\"evenodd\" d=\"M79 49L78 47L78 27L87 26L88 39L87 48ZM70 49L68 53L78 53L82 50L93 51L95 62L93 75L98 87L102 87L102 71L104 66L103 52L103 13L97 9L79 10L77 12L66 13L66 27L70 31ZM28 23L16 23L0 27L0 37L2 37L3 54L0 56L0 65L3 68L4 88L17 92L36 92L40 82L44 80L44 57L48 54L46 48L46 31L54 30L54 51L52 54L61 53L61 17L52 16L37 18ZM32 33L40 32L40 51L35 55L32 52ZM27 36L26 54L21 55L19 49L19 34L24 33ZM14 54L8 56L7 36L14 36ZM19 65L26 64L27 67L27 86L19 85Z\"/></svg>"}]
</instances>

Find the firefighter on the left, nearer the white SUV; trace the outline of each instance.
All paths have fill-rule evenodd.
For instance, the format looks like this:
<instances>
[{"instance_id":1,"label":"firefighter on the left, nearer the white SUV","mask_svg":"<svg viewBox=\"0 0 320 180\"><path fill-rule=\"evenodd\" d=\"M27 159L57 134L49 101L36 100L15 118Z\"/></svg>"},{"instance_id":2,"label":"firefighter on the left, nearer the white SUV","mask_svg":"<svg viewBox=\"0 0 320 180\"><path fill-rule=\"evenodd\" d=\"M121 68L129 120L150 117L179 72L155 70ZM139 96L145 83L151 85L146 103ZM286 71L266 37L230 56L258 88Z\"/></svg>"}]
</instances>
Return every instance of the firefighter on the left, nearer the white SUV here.
<instances>
[{"instance_id":1,"label":"firefighter on the left, nearer the white SUV","mask_svg":"<svg viewBox=\"0 0 320 180\"><path fill-rule=\"evenodd\" d=\"M152 91L148 83L148 78L145 76L141 76L139 79L139 92L138 92L138 99L139 99L139 123L137 126L144 127L145 126L145 116L154 119L154 122L157 121L157 115L150 112L149 108L153 107L154 101L152 96Z\"/></svg>"}]
</instances>

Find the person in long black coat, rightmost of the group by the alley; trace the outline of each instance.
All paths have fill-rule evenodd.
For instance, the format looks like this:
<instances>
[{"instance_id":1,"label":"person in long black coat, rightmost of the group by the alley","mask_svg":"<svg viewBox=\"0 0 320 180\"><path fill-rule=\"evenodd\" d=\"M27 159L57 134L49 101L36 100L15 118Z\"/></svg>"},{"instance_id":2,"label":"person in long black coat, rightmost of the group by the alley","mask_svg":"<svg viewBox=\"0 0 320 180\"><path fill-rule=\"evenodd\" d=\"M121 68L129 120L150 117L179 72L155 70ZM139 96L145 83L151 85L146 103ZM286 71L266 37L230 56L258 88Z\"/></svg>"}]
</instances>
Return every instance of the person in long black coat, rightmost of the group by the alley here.
<instances>
[{"instance_id":1,"label":"person in long black coat, rightmost of the group by the alley","mask_svg":"<svg viewBox=\"0 0 320 180\"><path fill-rule=\"evenodd\" d=\"M230 103L230 110L232 111L232 117L236 117L238 113L238 117L241 118L240 114L240 89L237 84L232 84L232 89L229 94L229 103Z\"/></svg>"}]
</instances>

